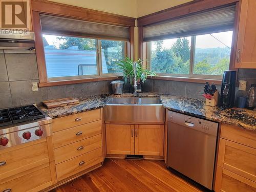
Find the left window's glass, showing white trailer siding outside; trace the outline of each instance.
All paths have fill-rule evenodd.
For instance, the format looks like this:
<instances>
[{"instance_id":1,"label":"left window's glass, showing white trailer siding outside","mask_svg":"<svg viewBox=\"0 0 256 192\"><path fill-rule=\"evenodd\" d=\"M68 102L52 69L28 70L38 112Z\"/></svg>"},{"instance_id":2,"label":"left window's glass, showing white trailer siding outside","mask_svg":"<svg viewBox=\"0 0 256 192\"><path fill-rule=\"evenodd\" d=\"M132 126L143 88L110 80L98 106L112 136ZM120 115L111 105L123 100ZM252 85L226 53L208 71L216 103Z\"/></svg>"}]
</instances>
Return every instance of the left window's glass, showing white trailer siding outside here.
<instances>
[{"instance_id":1,"label":"left window's glass, showing white trailer siding outside","mask_svg":"<svg viewBox=\"0 0 256 192\"><path fill-rule=\"evenodd\" d=\"M49 81L121 72L116 62L124 57L124 41L48 34L42 37Z\"/></svg>"}]
</instances>

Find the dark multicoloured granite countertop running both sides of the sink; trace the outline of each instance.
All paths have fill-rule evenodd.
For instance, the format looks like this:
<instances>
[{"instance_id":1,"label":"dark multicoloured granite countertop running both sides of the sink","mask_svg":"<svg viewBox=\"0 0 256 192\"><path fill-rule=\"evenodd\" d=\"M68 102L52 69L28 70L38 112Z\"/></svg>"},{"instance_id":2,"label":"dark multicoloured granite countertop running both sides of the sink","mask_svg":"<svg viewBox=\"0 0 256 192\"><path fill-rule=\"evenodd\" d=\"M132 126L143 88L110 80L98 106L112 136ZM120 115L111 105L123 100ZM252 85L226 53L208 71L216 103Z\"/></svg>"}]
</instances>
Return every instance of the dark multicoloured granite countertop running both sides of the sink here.
<instances>
[{"instance_id":1,"label":"dark multicoloured granite countertop running both sides of the sink","mask_svg":"<svg viewBox=\"0 0 256 192\"><path fill-rule=\"evenodd\" d=\"M51 118L63 117L76 113L86 112L102 108L109 99L113 97L133 97L133 94L124 93L122 95L96 95L86 98L77 98L80 103L75 105L63 106L53 109L40 108ZM225 109L221 110L218 106L206 106L205 100L192 99L179 96L144 92L140 97L160 97L164 108L186 115L199 117L216 122L223 122L242 127L247 130L256 130L256 112L247 109Z\"/></svg>"}]
</instances>

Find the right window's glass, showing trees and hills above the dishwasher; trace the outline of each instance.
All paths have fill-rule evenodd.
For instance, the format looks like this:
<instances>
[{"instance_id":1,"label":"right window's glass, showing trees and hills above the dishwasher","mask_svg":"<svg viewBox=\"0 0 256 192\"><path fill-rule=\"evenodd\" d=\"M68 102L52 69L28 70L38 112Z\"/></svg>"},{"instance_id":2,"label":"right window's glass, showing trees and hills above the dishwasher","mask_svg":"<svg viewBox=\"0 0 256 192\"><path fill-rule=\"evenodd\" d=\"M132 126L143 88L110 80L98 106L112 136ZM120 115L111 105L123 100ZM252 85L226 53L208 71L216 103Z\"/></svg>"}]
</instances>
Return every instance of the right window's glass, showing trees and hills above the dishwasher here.
<instances>
[{"instance_id":1,"label":"right window's glass, showing trees and hills above the dishwasher","mask_svg":"<svg viewBox=\"0 0 256 192\"><path fill-rule=\"evenodd\" d=\"M159 75L221 79L229 69L232 31L151 41L151 70Z\"/></svg>"}]
</instances>

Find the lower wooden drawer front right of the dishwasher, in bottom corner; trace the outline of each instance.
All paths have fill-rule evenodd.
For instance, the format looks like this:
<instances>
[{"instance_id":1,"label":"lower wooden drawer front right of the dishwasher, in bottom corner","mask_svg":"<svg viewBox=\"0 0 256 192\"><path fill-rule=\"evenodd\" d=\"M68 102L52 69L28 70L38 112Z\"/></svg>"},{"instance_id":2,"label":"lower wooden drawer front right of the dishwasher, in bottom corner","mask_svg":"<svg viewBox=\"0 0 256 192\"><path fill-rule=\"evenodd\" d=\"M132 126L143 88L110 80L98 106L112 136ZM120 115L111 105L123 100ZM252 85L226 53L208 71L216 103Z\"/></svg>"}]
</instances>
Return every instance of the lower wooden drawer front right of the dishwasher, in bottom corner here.
<instances>
[{"instance_id":1,"label":"lower wooden drawer front right of the dishwasher, in bottom corner","mask_svg":"<svg viewBox=\"0 0 256 192\"><path fill-rule=\"evenodd\" d=\"M223 169L221 191L225 192L241 192L241 191L256 191L256 183L241 177L237 174Z\"/></svg>"}]
</instances>

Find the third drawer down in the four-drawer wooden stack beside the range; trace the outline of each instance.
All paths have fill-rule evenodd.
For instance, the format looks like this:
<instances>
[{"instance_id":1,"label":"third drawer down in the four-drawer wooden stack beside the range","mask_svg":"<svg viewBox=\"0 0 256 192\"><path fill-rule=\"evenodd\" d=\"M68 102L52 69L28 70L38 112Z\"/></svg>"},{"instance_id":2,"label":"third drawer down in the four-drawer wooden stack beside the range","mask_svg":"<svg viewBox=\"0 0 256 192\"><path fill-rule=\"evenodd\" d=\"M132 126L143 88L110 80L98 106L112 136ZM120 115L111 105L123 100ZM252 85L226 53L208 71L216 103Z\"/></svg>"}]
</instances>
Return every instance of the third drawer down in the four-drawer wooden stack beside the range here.
<instances>
[{"instance_id":1,"label":"third drawer down in the four-drawer wooden stack beside the range","mask_svg":"<svg viewBox=\"0 0 256 192\"><path fill-rule=\"evenodd\" d=\"M55 163L67 161L79 155L96 150L102 146L101 134L59 147L54 150Z\"/></svg>"}]
</instances>

